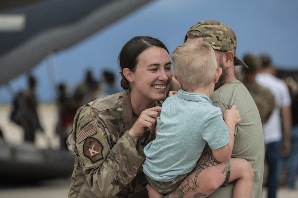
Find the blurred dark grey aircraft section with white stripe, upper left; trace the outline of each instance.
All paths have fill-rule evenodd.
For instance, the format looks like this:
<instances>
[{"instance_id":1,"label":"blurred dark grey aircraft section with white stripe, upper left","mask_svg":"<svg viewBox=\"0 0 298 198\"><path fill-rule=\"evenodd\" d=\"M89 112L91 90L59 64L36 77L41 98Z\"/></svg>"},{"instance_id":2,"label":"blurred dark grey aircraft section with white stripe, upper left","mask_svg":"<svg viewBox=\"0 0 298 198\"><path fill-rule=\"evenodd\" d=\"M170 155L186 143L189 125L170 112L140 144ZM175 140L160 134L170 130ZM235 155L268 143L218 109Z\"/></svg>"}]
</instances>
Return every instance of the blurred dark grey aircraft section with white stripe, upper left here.
<instances>
[{"instance_id":1,"label":"blurred dark grey aircraft section with white stripe, upper left","mask_svg":"<svg viewBox=\"0 0 298 198\"><path fill-rule=\"evenodd\" d=\"M152 0L12 0L0 5L0 86Z\"/></svg>"}]
</instances>

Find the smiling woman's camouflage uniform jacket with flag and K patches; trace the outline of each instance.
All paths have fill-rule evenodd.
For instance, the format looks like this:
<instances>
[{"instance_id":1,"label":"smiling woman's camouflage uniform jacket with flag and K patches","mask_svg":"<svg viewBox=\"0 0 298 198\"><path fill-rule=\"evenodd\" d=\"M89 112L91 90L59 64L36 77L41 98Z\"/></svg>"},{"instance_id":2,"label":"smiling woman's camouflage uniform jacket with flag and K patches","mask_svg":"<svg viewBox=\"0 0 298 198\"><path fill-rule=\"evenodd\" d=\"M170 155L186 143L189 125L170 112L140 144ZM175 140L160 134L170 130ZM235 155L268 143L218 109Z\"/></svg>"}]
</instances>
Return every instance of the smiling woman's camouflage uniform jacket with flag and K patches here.
<instances>
[{"instance_id":1,"label":"smiling woman's camouflage uniform jacket with flag and K patches","mask_svg":"<svg viewBox=\"0 0 298 198\"><path fill-rule=\"evenodd\" d=\"M129 90L79 108L68 137L76 154L69 197L148 197L143 148L155 132L146 131L135 147L128 130L137 119Z\"/></svg>"}]
</instances>

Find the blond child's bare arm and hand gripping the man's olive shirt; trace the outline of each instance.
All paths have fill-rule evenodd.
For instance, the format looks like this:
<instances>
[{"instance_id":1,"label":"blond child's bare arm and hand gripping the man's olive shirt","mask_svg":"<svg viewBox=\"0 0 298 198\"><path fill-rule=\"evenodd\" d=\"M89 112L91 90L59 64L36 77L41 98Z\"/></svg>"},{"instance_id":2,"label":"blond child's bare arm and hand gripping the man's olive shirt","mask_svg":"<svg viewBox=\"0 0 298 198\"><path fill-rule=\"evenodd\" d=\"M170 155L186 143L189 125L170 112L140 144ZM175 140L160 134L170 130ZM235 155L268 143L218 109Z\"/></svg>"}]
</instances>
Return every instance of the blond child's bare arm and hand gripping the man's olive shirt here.
<instances>
[{"instance_id":1,"label":"blond child's bare arm and hand gripping the man's olive shirt","mask_svg":"<svg viewBox=\"0 0 298 198\"><path fill-rule=\"evenodd\" d=\"M233 105L230 109L227 109L224 112L223 119L225 120L226 126L229 130L229 142L227 145L219 149L212 150L214 158L219 162L226 161L232 154L235 125L241 122L241 117L239 111L236 109L236 105Z\"/></svg>"}]
</instances>

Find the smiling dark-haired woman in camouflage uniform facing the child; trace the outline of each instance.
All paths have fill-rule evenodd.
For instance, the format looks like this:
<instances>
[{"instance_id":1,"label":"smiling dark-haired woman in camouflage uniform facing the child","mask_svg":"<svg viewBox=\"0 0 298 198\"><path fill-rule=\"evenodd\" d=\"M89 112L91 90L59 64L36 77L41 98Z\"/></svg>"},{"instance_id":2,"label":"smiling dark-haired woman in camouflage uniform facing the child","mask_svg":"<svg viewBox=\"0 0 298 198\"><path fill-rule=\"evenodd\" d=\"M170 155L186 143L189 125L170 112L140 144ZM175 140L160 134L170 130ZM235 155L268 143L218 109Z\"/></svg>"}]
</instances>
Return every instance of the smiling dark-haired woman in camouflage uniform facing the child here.
<instances>
[{"instance_id":1,"label":"smiling dark-haired woman in camouflage uniform facing the child","mask_svg":"<svg viewBox=\"0 0 298 198\"><path fill-rule=\"evenodd\" d=\"M68 197L148 197L143 148L171 86L166 46L134 37L119 54L125 91L79 108L68 148L76 154Z\"/></svg>"}]
</instances>

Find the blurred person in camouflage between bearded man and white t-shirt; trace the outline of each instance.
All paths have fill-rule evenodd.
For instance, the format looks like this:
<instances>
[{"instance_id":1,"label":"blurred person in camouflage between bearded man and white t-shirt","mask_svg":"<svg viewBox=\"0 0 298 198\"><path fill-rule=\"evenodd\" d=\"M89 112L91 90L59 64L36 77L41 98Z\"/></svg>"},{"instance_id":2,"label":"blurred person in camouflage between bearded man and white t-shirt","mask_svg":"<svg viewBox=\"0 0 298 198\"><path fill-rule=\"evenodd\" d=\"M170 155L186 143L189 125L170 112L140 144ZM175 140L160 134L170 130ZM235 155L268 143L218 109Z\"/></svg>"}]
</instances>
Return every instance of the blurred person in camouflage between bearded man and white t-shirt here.
<instances>
[{"instance_id":1,"label":"blurred person in camouflage between bearded man and white t-shirt","mask_svg":"<svg viewBox=\"0 0 298 198\"><path fill-rule=\"evenodd\" d=\"M265 124L275 108L274 95L268 88L256 82L256 75L262 64L261 58L256 54L248 53L243 57L243 61L248 68L242 67L242 82L257 105L262 124Z\"/></svg>"}]
</instances>

